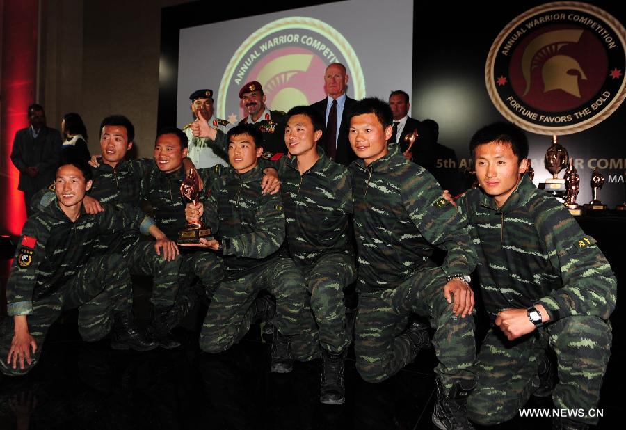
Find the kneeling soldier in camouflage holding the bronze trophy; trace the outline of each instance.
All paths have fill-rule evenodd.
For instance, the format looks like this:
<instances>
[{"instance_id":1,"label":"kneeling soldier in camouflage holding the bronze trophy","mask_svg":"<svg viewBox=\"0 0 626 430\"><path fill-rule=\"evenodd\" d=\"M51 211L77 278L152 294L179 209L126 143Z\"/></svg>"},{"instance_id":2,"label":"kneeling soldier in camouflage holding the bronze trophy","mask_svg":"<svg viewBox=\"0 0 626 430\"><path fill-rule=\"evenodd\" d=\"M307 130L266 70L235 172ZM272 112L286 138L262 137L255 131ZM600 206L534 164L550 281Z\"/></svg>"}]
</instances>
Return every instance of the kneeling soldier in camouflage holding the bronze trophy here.
<instances>
[{"instance_id":1,"label":"kneeling soldier in camouflage holding the bronze trophy","mask_svg":"<svg viewBox=\"0 0 626 430\"><path fill-rule=\"evenodd\" d=\"M225 266L225 278L202 326L203 351L229 349L259 320L271 321L282 336L295 335L303 328L306 289L294 262L282 252L282 200L279 194L262 193L259 185L263 173L258 158L263 148L257 142L262 138L253 125L232 128L228 132L232 170L213 182L204 207L187 205L188 221L202 216L216 239L185 245L217 251ZM268 296L257 298L261 290L275 296L275 308Z\"/></svg>"}]
</instances>

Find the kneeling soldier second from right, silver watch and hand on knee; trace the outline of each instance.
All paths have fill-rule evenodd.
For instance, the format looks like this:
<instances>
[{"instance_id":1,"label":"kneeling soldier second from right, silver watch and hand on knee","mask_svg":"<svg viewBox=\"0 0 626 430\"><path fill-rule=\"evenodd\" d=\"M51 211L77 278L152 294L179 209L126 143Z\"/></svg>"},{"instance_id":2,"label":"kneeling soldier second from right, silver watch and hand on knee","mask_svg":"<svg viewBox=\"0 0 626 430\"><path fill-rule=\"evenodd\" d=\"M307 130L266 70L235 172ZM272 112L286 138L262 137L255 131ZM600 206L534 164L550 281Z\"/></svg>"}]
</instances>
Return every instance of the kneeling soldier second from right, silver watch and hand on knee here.
<instances>
[{"instance_id":1,"label":"kneeling soldier second from right, silver watch and hand on knee","mask_svg":"<svg viewBox=\"0 0 626 430\"><path fill-rule=\"evenodd\" d=\"M359 157L349 166L358 247L356 367L369 382L396 374L428 344L421 327L408 325L410 313L428 317L440 362L433 422L458 428L442 411L467 423L463 399L476 385L474 296L467 284L476 253L467 220L441 198L432 175L397 148L387 150L392 118L380 99L363 99L350 114L348 137ZM429 259L431 244L447 250L441 267Z\"/></svg>"}]
</instances>

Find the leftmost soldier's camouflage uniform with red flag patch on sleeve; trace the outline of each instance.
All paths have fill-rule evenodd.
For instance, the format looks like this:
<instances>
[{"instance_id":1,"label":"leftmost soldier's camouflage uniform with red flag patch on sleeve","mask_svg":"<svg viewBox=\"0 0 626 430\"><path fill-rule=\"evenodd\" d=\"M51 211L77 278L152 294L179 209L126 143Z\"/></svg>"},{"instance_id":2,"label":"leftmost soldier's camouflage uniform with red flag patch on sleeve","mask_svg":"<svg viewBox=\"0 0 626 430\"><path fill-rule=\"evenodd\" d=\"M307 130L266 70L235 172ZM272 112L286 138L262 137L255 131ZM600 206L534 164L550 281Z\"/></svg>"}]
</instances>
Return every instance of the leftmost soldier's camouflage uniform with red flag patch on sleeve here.
<instances>
[{"instance_id":1,"label":"leftmost soldier's camouflage uniform with red flag patch on sleeve","mask_svg":"<svg viewBox=\"0 0 626 430\"><path fill-rule=\"evenodd\" d=\"M63 310L79 308L79 333L94 341L116 326L129 326L131 279L118 254L94 255L101 234L138 227L141 211L106 205L96 215L81 214L72 222L56 204L31 216L22 230L7 282L8 315L27 315L29 333L37 342L31 365L13 369L6 357L13 339L13 318L0 324L0 370L8 375L29 372L40 358L50 326ZM146 347L154 348L145 344Z\"/></svg>"}]
</instances>

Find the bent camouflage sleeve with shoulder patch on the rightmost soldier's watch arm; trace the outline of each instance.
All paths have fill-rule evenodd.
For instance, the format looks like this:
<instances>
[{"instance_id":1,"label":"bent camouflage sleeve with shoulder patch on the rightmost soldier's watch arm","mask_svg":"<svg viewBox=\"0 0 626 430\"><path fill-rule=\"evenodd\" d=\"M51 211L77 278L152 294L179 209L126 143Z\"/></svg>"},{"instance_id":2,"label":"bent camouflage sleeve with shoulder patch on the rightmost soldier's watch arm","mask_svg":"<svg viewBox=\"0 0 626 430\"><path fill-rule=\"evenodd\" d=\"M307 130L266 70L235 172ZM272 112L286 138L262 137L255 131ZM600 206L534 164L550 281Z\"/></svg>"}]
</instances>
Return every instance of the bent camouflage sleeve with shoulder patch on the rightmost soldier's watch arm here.
<instances>
[{"instance_id":1,"label":"bent camouflage sleeve with shoulder patch on the rightmost soldier's watch arm","mask_svg":"<svg viewBox=\"0 0 626 430\"><path fill-rule=\"evenodd\" d=\"M542 197L531 211L563 283L538 303L552 320L570 315L609 319L615 309L617 280L595 239L585 234L568 210L551 196Z\"/></svg>"}]
</instances>

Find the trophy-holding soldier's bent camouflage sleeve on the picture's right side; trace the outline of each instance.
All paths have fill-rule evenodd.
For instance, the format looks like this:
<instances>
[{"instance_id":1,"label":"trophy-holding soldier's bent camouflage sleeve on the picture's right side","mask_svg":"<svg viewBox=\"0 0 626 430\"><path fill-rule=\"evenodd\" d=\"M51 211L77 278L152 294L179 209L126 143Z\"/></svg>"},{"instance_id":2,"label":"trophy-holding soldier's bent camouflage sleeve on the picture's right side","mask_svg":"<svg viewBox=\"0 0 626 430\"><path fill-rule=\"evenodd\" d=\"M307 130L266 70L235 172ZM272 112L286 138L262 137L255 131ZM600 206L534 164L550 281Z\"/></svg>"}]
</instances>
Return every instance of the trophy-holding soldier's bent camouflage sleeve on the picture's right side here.
<instances>
[{"instance_id":1,"label":"trophy-holding soldier's bent camouflage sleeve on the picture's right side","mask_svg":"<svg viewBox=\"0 0 626 430\"><path fill-rule=\"evenodd\" d=\"M224 255L264 258L280 248L284 240L284 212L280 196L280 193L262 195L255 214L255 231L224 239Z\"/></svg>"}]
</instances>

